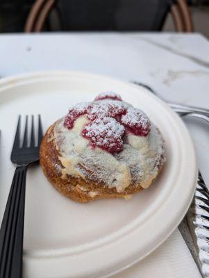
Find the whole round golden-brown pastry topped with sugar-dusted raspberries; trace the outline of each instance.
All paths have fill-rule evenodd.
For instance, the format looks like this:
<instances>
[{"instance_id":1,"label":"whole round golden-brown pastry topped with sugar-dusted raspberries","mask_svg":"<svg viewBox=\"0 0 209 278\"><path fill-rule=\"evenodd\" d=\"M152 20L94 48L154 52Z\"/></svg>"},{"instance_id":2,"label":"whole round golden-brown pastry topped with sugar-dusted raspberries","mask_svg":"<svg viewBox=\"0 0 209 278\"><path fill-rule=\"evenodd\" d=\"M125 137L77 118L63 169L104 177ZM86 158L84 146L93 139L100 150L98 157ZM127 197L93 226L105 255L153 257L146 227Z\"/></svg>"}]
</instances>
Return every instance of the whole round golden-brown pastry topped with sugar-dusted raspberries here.
<instances>
[{"instance_id":1,"label":"whole round golden-brown pastry topped with sugar-dusted raspberries","mask_svg":"<svg viewBox=\"0 0 209 278\"><path fill-rule=\"evenodd\" d=\"M49 127L40 147L47 179L76 202L130 199L151 185L164 163L159 129L113 92L70 108Z\"/></svg>"}]
</instances>

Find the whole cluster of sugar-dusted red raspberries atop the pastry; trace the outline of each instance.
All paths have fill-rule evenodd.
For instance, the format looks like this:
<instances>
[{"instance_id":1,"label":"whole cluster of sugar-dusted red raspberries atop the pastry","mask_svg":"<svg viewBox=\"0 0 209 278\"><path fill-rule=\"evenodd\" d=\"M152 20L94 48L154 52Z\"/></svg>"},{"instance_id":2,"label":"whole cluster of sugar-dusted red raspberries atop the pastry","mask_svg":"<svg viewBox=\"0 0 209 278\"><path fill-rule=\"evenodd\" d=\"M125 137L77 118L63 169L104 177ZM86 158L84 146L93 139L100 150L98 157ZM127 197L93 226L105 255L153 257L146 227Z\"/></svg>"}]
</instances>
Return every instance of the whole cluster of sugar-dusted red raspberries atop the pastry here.
<instances>
[{"instance_id":1,"label":"whole cluster of sugar-dusted red raspberries atop the pastry","mask_svg":"<svg viewBox=\"0 0 209 278\"><path fill-rule=\"evenodd\" d=\"M137 136L147 136L150 131L147 115L128 106L112 92L100 94L91 103L76 104L65 117L64 126L72 129L75 120L85 114L91 122L84 127L82 136L90 140L92 147L110 153L122 151L123 143L127 141L125 128Z\"/></svg>"}]
</instances>

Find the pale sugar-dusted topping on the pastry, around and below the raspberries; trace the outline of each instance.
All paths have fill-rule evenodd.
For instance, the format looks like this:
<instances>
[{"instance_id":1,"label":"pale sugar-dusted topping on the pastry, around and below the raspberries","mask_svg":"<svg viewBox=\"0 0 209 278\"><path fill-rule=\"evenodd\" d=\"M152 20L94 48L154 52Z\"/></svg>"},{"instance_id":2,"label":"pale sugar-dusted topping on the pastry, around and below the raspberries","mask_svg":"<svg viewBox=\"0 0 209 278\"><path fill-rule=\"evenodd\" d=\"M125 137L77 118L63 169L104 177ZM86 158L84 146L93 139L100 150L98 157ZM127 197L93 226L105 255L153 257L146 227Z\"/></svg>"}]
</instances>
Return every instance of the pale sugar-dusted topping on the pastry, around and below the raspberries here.
<instances>
[{"instance_id":1,"label":"pale sugar-dusted topping on the pastry, around and below the raspberries","mask_svg":"<svg viewBox=\"0 0 209 278\"><path fill-rule=\"evenodd\" d=\"M165 162L164 142L156 126L151 124L148 136L129 133L129 143L123 145L121 152L112 155L98 147L93 149L90 140L81 136L85 124L87 119L81 116L71 130L63 126L63 121L55 126L56 146L67 174L103 182L109 188L117 188L118 192L123 192L131 183L144 188L149 186Z\"/></svg>"}]
</instances>

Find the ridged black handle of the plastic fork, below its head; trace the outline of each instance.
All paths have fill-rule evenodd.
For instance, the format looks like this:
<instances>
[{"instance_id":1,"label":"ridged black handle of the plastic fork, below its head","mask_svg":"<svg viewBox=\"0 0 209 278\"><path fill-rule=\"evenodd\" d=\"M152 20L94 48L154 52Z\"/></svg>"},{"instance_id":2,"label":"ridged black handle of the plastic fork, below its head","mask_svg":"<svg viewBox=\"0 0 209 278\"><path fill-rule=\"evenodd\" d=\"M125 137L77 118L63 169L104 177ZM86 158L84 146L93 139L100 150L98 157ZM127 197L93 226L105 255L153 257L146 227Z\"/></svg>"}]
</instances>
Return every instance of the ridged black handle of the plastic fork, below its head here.
<instances>
[{"instance_id":1,"label":"ridged black handle of the plastic fork, below its head","mask_svg":"<svg viewBox=\"0 0 209 278\"><path fill-rule=\"evenodd\" d=\"M1 223L0 278L22 278L26 170L15 170Z\"/></svg>"}]
</instances>

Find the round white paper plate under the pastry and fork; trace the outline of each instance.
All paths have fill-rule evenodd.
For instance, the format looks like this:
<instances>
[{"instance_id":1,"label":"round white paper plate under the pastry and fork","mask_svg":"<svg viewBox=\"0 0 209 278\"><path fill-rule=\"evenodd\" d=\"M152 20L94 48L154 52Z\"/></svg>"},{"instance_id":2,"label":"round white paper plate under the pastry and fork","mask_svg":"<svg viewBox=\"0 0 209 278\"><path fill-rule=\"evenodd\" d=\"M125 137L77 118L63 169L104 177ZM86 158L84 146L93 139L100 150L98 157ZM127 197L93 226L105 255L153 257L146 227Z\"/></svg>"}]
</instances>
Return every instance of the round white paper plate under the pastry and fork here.
<instances>
[{"instance_id":1,"label":"round white paper plate under the pastry and fork","mask_svg":"<svg viewBox=\"0 0 209 278\"><path fill-rule=\"evenodd\" d=\"M44 129L78 101L105 91L142 108L165 138L167 163L155 184L130 201L78 204L60 195L40 167L28 170L24 277L107 277L152 252L190 205L197 178L194 147L181 119L144 88L83 72L42 72L0 81L0 213L15 166L10 151L17 115L42 115Z\"/></svg>"}]
</instances>

